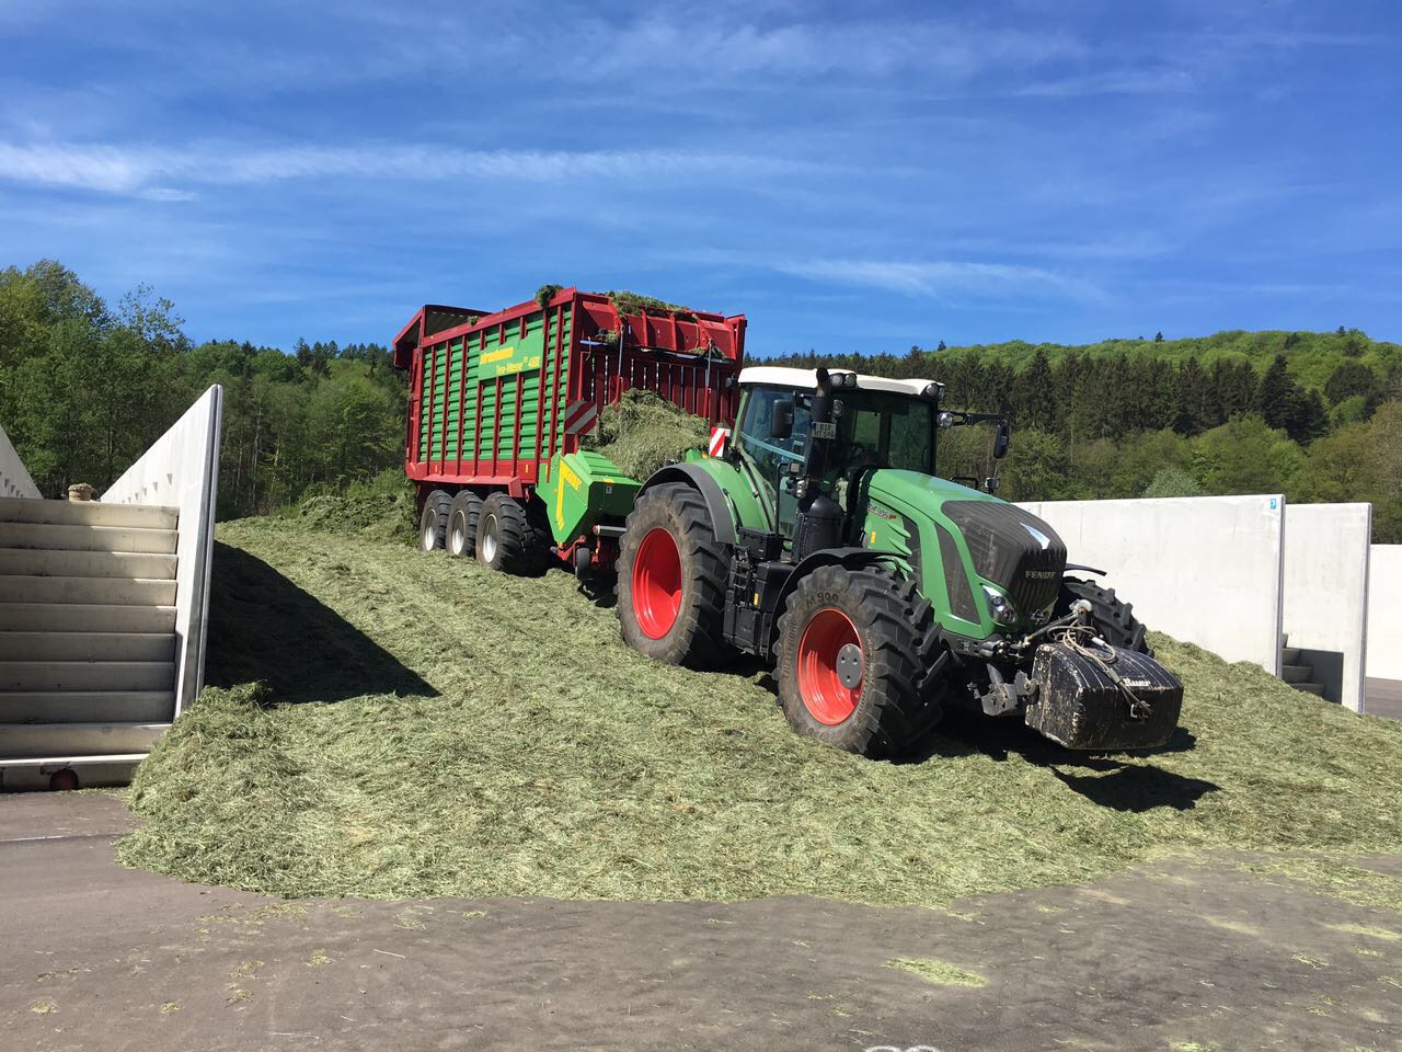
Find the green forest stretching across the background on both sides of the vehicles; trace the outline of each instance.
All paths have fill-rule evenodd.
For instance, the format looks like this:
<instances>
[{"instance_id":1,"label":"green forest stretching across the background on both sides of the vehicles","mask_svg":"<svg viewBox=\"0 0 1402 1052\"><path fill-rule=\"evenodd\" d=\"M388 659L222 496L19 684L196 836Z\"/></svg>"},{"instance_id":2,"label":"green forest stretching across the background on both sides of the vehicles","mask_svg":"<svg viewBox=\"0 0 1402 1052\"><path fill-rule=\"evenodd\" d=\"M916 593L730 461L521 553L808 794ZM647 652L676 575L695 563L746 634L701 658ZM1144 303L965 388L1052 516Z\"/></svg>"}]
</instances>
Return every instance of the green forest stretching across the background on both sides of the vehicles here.
<instances>
[{"instance_id":1,"label":"green forest stretching across the background on both sides of the vehicles","mask_svg":"<svg viewBox=\"0 0 1402 1052\"><path fill-rule=\"evenodd\" d=\"M182 324L146 288L109 304L53 261L0 271L0 425L48 495L77 481L105 488L212 383L226 398L222 518L381 474L394 483L407 389L386 346L196 345ZM1371 501L1374 539L1402 543L1402 346L1356 328L939 342L771 363L931 377L952 408L1009 412L1012 446L997 466L1009 499ZM941 474L994 473L991 428L939 440Z\"/></svg>"}]
</instances>

